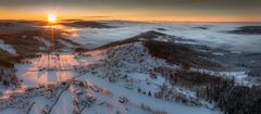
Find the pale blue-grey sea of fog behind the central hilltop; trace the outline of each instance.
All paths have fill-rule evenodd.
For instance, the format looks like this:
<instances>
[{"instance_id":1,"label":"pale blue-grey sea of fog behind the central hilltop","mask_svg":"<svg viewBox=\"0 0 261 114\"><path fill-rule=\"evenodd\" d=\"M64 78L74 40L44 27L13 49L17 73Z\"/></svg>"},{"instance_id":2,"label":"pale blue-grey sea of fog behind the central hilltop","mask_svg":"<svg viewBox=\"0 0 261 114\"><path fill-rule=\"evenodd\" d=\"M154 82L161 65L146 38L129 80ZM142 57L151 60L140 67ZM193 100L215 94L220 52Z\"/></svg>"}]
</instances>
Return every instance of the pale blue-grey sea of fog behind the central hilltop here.
<instances>
[{"instance_id":1,"label":"pale blue-grey sea of fog behind the central hilltop","mask_svg":"<svg viewBox=\"0 0 261 114\"><path fill-rule=\"evenodd\" d=\"M112 41L123 40L148 30L158 30L184 39L192 39L211 48L240 52L261 52L261 35L238 35L227 33L240 26L257 24L232 23L130 23L103 22L115 28L82 28L74 40L87 48L96 48ZM207 29L198 28L204 27Z\"/></svg>"}]
</instances>

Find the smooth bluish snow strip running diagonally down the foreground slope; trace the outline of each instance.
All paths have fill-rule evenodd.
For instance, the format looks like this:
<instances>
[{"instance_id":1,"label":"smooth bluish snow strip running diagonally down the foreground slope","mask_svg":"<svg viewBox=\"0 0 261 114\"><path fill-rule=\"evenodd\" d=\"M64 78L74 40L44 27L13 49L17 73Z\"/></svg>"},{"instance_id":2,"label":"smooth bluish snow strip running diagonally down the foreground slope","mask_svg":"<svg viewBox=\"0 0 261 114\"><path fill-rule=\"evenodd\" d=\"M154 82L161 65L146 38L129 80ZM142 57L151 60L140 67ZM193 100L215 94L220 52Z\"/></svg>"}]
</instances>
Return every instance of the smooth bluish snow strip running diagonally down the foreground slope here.
<instances>
[{"instance_id":1,"label":"smooth bluish snow strip running diagonally down the foreground slope","mask_svg":"<svg viewBox=\"0 0 261 114\"><path fill-rule=\"evenodd\" d=\"M140 105L144 103L146 105L150 105L154 110L166 111L169 114L191 114L191 112L194 114L219 114L216 111L211 111L204 107L186 106L139 94L137 92L133 92L132 90L127 90L105 80L99 79L97 76L88 76L87 78L82 79L86 79L96 84L97 86L104 87L105 89L112 91L114 96L127 97L135 105Z\"/></svg>"}]
</instances>

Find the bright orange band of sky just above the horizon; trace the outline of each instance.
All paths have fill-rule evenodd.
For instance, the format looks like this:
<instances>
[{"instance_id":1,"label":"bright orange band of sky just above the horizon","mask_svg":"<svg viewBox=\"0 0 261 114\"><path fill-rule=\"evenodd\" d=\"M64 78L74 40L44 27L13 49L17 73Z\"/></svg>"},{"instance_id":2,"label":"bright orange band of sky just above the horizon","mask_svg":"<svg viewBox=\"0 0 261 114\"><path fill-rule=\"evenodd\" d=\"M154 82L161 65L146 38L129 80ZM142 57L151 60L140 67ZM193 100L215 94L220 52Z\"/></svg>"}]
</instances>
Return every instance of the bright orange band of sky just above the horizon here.
<instances>
[{"instance_id":1,"label":"bright orange band of sky just above the horizon","mask_svg":"<svg viewBox=\"0 0 261 114\"><path fill-rule=\"evenodd\" d=\"M52 13L52 11L49 11ZM0 20L40 20L45 21L47 18L47 12L10 12L10 11L0 11ZM130 12L132 14L135 12ZM125 15L125 14L107 14L107 15L95 15L89 14L83 16L83 14L77 13L60 13L55 12L58 20L125 20L125 21L167 21L167 22L260 22L261 16L212 16L212 15L176 15L176 16L166 16L166 15ZM4 16L3 16L4 15Z\"/></svg>"}]
</instances>

